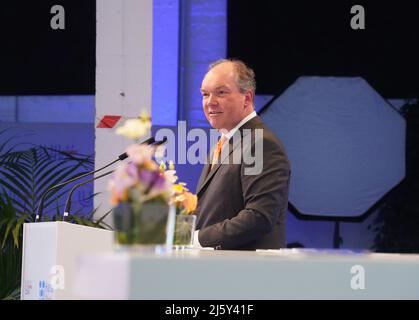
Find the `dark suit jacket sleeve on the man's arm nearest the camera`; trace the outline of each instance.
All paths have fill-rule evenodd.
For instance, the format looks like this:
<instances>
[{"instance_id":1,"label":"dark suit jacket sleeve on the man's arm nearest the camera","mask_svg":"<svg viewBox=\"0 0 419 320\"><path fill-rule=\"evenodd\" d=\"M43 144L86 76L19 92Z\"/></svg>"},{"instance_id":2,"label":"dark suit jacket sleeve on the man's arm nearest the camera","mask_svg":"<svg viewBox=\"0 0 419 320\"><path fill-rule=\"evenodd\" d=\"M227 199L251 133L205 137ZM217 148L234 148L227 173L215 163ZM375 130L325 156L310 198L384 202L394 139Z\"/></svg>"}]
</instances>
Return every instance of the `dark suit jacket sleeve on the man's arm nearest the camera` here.
<instances>
[{"instance_id":1,"label":"dark suit jacket sleeve on the man's arm nearest the camera","mask_svg":"<svg viewBox=\"0 0 419 320\"><path fill-rule=\"evenodd\" d=\"M254 144L252 145L252 154ZM269 233L288 205L290 167L282 144L271 134L263 137L263 168L249 175L240 165L244 208L233 218L204 227L199 242L204 247L234 249ZM228 201L225 199L224 201Z\"/></svg>"}]
</instances>

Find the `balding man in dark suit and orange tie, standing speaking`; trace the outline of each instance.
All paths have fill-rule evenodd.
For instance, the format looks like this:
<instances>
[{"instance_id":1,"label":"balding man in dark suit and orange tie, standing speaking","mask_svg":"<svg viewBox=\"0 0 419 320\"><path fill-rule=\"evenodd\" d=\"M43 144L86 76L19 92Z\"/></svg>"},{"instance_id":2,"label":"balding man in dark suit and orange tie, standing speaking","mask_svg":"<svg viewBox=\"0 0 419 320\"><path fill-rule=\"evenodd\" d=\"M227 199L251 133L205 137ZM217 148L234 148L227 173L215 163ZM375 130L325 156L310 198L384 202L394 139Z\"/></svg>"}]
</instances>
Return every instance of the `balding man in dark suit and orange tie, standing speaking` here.
<instances>
[{"instance_id":1,"label":"balding man in dark suit and orange tie, standing speaking","mask_svg":"<svg viewBox=\"0 0 419 320\"><path fill-rule=\"evenodd\" d=\"M216 61L202 82L205 116L222 135L197 186L195 246L285 247L290 164L254 111L255 89L254 72L239 60Z\"/></svg>"}]
</instances>

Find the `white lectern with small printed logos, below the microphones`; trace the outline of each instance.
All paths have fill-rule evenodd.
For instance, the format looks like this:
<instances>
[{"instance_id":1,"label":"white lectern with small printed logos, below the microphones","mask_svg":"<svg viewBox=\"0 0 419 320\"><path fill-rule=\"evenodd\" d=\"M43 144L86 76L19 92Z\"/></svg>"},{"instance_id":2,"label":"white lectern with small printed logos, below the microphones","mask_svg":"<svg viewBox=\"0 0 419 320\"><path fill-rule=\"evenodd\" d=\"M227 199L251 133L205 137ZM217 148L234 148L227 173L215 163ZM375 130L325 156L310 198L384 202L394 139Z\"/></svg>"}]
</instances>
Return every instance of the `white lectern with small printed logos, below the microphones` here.
<instances>
[{"instance_id":1,"label":"white lectern with small printed logos, below the microphones","mask_svg":"<svg viewBox=\"0 0 419 320\"><path fill-rule=\"evenodd\" d=\"M112 231L68 222L25 223L21 299L76 299L76 257L112 250L113 237Z\"/></svg>"}]
</instances>

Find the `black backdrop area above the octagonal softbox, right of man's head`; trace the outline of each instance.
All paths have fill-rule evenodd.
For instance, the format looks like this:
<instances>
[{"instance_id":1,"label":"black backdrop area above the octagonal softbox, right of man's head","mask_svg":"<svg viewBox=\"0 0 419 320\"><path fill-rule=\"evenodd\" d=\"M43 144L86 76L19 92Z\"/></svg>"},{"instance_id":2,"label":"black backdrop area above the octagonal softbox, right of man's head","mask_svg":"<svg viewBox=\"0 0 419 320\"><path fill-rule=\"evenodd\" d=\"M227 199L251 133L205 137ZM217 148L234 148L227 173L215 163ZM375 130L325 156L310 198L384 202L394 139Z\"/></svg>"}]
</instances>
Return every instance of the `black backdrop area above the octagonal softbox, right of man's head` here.
<instances>
[{"instance_id":1,"label":"black backdrop area above the octagonal softbox, right of man's head","mask_svg":"<svg viewBox=\"0 0 419 320\"><path fill-rule=\"evenodd\" d=\"M350 27L353 5L365 30ZM362 76L385 98L418 97L419 1L228 1L228 56L256 72L257 93L301 75Z\"/></svg>"}]
</instances>

